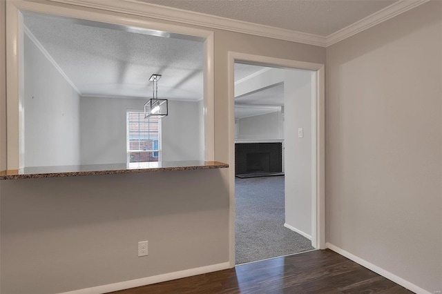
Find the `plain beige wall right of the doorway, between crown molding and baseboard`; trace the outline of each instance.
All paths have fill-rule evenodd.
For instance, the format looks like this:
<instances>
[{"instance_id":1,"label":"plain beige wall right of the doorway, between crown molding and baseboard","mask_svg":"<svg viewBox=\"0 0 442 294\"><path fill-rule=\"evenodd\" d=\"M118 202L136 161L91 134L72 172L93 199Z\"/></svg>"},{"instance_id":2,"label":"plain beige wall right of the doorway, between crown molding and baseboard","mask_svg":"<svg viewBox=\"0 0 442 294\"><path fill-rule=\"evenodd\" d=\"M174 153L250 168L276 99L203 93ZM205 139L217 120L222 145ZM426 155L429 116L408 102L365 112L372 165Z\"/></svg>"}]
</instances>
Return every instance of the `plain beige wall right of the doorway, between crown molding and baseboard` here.
<instances>
[{"instance_id":1,"label":"plain beige wall right of the doorway, between crown molding and baseboard","mask_svg":"<svg viewBox=\"0 0 442 294\"><path fill-rule=\"evenodd\" d=\"M327 242L442 290L442 2L327 48Z\"/></svg>"}]
</instances>

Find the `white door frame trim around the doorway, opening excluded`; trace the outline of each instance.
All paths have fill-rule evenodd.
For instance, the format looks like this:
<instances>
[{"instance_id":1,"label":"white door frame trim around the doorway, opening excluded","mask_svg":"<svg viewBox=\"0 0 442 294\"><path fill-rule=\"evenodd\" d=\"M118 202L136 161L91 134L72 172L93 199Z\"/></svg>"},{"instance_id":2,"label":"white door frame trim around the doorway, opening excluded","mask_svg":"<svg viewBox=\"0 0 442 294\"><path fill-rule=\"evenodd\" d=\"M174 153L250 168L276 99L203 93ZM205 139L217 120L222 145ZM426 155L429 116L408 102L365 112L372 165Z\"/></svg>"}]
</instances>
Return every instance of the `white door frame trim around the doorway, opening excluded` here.
<instances>
[{"instance_id":1,"label":"white door frame trim around the doorway, opening excluded","mask_svg":"<svg viewBox=\"0 0 442 294\"><path fill-rule=\"evenodd\" d=\"M311 177L311 244L315 248L325 249L325 66L320 63L279 59L260 55L251 55L229 51L229 254L230 266L235 266L235 62L273 66L278 68L296 68L316 72L315 97L312 99L312 177Z\"/></svg>"}]
</instances>

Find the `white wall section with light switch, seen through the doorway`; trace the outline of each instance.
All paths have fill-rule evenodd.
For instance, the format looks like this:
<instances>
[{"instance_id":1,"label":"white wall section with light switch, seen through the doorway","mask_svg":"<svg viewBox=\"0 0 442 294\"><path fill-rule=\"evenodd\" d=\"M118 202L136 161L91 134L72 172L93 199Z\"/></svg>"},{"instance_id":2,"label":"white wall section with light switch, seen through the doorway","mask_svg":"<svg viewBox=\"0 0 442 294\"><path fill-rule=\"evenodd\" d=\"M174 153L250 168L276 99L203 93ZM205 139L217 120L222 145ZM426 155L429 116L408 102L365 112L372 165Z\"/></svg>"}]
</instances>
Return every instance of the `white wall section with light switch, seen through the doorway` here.
<instances>
[{"instance_id":1,"label":"white wall section with light switch, seen through the doorway","mask_svg":"<svg viewBox=\"0 0 442 294\"><path fill-rule=\"evenodd\" d=\"M284 70L285 222L311 235L311 75ZM298 137L298 128L303 137Z\"/></svg>"}]
</instances>

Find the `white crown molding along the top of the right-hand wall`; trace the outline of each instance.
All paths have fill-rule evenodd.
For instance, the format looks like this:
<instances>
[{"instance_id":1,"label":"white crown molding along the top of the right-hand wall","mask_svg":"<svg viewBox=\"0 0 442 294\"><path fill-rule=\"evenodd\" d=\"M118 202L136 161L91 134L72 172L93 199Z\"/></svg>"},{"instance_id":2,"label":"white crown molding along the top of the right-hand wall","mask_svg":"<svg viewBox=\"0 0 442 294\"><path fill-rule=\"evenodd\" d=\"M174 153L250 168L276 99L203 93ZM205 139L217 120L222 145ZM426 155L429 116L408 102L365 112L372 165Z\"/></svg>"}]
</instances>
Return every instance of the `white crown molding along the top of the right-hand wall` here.
<instances>
[{"instance_id":1,"label":"white crown molding along the top of the right-hand wall","mask_svg":"<svg viewBox=\"0 0 442 294\"><path fill-rule=\"evenodd\" d=\"M368 28L372 28L372 26L376 26L378 23L391 19L392 17L396 17L396 15L406 12L412 8L420 6L421 4L430 1L430 0L400 0L393 3L386 8L379 10L378 12L374 12L370 14L368 17L361 19L360 21L356 21L356 23L352 23L351 25L334 32L327 36L325 47L331 46L334 43L338 43L343 39L347 39L352 37L353 35L358 34L358 32L362 32L363 30L367 30Z\"/></svg>"}]
</instances>

